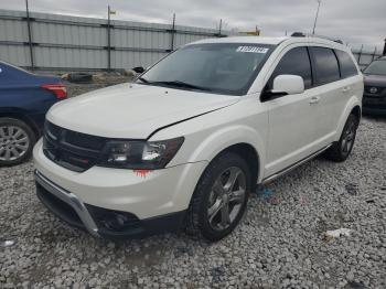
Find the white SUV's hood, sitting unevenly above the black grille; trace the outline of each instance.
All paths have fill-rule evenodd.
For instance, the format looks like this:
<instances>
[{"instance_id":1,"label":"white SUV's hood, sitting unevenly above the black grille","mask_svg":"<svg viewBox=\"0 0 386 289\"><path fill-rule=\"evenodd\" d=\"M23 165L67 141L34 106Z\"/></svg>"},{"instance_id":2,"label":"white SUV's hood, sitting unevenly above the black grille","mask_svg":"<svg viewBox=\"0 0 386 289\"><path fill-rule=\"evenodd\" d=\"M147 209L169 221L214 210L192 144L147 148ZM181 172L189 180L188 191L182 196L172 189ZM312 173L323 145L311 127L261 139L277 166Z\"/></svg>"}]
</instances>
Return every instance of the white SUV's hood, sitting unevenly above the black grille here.
<instances>
[{"instance_id":1,"label":"white SUV's hood, sitting unevenly above the black grille","mask_svg":"<svg viewBox=\"0 0 386 289\"><path fill-rule=\"evenodd\" d=\"M50 109L47 119L87 135L146 139L159 128L233 105L239 98L120 84L61 101Z\"/></svg>"}]
</instances>

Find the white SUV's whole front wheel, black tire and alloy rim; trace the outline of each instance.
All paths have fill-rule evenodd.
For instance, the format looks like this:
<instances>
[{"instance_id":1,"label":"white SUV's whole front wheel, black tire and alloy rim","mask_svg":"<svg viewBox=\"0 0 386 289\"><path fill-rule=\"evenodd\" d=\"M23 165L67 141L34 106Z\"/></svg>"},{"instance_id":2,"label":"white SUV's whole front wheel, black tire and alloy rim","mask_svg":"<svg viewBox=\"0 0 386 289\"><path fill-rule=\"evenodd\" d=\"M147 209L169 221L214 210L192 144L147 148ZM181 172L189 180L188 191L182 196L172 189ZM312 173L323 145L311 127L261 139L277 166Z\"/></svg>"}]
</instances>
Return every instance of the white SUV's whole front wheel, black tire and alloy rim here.
<instances>
[{"instance_id":1,"label":"white SUV's whole front wheel, black tire and alloy rim","mask_svg":"<svg viewBox=\"0 0 386 289\"><path fill-rule=\"evenodd\" d=\"M211 242L224 238L242 220L250 189L250 170L243 158L233 152L216 157L193 193L186 214L186 233Z\"/></svg>"}]
</instances>

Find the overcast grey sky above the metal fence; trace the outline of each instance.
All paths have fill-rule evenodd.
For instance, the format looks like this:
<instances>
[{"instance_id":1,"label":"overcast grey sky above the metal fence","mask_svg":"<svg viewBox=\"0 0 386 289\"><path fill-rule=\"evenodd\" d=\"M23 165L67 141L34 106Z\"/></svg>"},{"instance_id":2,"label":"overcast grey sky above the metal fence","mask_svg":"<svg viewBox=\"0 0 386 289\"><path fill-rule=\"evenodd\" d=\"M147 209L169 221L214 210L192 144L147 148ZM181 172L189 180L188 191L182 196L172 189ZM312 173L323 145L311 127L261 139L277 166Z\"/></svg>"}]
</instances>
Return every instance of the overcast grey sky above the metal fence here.
<instances>
[{"instance_id":1,"label":"overcast grey sky above the metal fence","mask_svg":"<svg viewBox=\"0 0 386 289\"><path fill-rule=\"evenodd\" d=\"M317 0L29 0L35 12L106 18L107 6L117 11L114 19L176 23L204 28L254 30L262 35L311 32ZM1 9L23 10L24 0L0 0ZM352 46L383 47L386 38L386 0L322 0L317 34L336 36Z\"/></svg>"}]
</instances>

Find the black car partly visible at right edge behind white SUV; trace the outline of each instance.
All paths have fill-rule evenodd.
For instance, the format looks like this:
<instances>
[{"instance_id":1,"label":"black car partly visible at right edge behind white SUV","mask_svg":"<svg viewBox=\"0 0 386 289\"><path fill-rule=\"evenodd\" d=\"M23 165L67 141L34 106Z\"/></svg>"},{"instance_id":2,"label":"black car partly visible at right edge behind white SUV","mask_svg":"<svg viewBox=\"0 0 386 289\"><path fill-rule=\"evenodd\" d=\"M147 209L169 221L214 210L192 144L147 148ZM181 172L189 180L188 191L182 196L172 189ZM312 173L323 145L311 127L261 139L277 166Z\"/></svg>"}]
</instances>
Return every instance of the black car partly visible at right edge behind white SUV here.
<instances>
[{"instance_id":1,"label":"black car partly visible at right edge behind white SUV","mask_svg":"<svg viewBox=\"0 0 386 289\"><path fill-rule=\"evenodd\" d=\"M372 62L364 71L363 113L386 115L386 56Z\"/></svg>"}]
</instances>

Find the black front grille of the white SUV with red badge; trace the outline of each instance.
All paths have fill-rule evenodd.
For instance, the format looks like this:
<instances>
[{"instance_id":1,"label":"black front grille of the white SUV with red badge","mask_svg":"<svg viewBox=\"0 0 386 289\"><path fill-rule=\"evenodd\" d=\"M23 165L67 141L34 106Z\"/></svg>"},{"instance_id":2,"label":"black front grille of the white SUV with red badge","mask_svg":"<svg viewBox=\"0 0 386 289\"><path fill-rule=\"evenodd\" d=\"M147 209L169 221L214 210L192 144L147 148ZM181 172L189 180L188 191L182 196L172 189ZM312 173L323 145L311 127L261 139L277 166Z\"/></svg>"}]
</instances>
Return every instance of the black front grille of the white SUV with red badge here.
<instances>
[{"instance_id":1,"label":"black front grille of the white SUV with red badge","mask_svg":"<svg viewBox=\"0 0 386 289\"><path fill-rule=\"evenodd\" d=\"M44 126L44 154L68 170L84 172L95 165L106 138L61 128L49 121Z\"/></svg>"}]
</instances>

